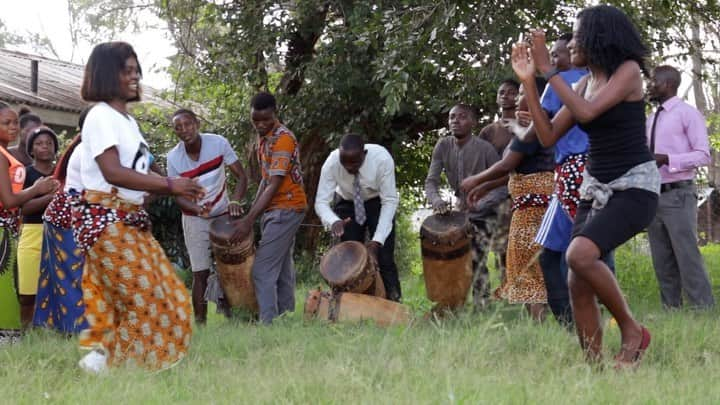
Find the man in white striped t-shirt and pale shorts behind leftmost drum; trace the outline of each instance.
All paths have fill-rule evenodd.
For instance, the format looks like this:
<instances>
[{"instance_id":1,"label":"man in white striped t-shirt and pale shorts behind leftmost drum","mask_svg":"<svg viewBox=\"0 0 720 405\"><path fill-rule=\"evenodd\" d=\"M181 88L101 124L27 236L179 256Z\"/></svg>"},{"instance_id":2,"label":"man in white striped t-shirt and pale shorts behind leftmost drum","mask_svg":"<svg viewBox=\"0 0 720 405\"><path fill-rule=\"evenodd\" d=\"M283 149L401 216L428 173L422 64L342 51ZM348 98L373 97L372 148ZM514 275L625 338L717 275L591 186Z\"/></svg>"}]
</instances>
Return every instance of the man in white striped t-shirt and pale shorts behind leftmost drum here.
<instances>
[{"instance_id":1,"label":"man in white striped t-shirt and pale shorts behind leftmost drum","mask_svg":"<svg viewBox=\"0 0 720 405\"><path fill-rule=\"evenodd\" d=\"M232 216L242 213L240 200L247 190L247 178L227 139L215 134L201 134L194 112L186 109L175 111L172 124L175 135L181 142L168 152L168 175L197 179L206 190L205 197L197 202L181 196L175 197L183 213L185 246L193 271L192 302L195 323L204 325L207 320L205 290L211 264L210 222L212 218L226 212ZM230 168L237 180L230 200L226 189L225 166Z\"/></svg>"}]
</instances>

